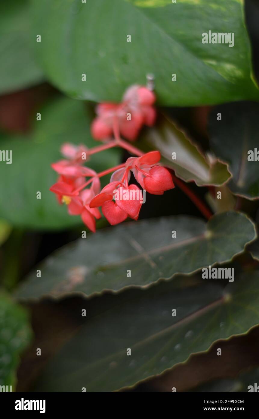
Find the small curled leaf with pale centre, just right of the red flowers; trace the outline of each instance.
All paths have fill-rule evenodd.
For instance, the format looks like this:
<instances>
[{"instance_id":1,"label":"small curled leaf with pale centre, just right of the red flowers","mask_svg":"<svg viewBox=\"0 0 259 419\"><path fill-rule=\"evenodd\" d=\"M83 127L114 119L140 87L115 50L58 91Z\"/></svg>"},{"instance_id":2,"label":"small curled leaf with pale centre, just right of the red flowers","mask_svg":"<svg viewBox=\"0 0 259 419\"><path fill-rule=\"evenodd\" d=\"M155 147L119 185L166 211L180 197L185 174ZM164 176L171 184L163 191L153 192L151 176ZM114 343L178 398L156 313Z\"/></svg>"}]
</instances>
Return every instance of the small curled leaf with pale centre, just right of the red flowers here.
<instances>
[{"instance_id":1,"label":"small curled leaf with pale centre, just right of the red flowers","mask_svg":"<svg viewBox=\"0 0 259 419\"><path fill-rule=\"evenodd\" d=\"M226 164L206 157L172 121L160 116L155 127L147 128L138 147L144 151L159 150L164 166L174 169L184 181L198 186L222 185L231 176ZM172 158L176 153L176 158Z\"/></svg>"}]
</instances>

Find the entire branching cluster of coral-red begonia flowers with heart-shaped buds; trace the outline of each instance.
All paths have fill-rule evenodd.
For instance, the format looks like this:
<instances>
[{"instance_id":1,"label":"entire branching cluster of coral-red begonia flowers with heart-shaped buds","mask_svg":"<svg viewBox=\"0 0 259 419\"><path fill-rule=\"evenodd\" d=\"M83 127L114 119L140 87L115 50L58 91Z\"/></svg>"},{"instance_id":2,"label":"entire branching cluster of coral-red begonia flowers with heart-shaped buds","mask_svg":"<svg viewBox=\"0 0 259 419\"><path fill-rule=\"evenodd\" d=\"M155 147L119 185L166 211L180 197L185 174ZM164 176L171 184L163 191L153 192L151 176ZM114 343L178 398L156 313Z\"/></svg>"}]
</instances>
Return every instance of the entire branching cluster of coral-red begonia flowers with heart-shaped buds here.
<instances>
[{"instance_id":1,"label":"entire branching cluster of coral-red begonia flowers with heart-shaped buds","mask_svg":"<svg viewBox=\"0 0 259 419\"><path fill-rule=\"evenodd\" d=\"M161 195L174 188L170 172L158 164L161 158L159 151L144 154L120 138L122 134L132 141L143 124L154 124L154 101L153 92L145 87L133 86L123 96L123 103L99 104L97 117L92 123L92 135L98 140L108 140L114 133L115 140L110 138L108 143L90 150L84 145L66 143L61 149L65 159L51 165L59 177L50 190L56 194L60 204L67 204L70 215L81 215L82 221L93 232L96 220L101 217L99 207L111 225L127 217L138 219L143 201L140 188L135 184L129 185L131 173L143 191L150 194ZM131 115L131 119L127 119L127 114ZM138 157L130 157L126 163L101 173L83 166L90 155L115 146L123 147ZM100 190L100 177L108 173L113 173L110 182Z\"/></svg>"}]
</instances>

